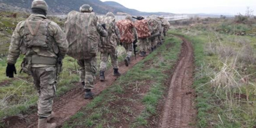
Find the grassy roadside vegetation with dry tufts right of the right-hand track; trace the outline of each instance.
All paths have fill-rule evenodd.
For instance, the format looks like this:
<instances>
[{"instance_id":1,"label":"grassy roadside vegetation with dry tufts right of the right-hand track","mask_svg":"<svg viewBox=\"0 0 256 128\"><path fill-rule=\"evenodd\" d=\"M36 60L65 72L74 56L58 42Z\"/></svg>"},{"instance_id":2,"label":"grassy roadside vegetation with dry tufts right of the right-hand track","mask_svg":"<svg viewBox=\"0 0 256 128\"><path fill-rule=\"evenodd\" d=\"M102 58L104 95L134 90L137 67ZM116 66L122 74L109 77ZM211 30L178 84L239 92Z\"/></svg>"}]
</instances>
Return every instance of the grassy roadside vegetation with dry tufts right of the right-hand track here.
<instances>
[{"instance_id":1,"label":"grassy roadside vegetation with dry tufts right of the right-hand track","mask_svg":"<svg viewBox=\"0 0 256 128\"><path fill-rule=\"evenodd\" d=\"M173 27L194 45L197 127L256 127L256 22L198 19Z\"/></svg>"}]
</instances>

